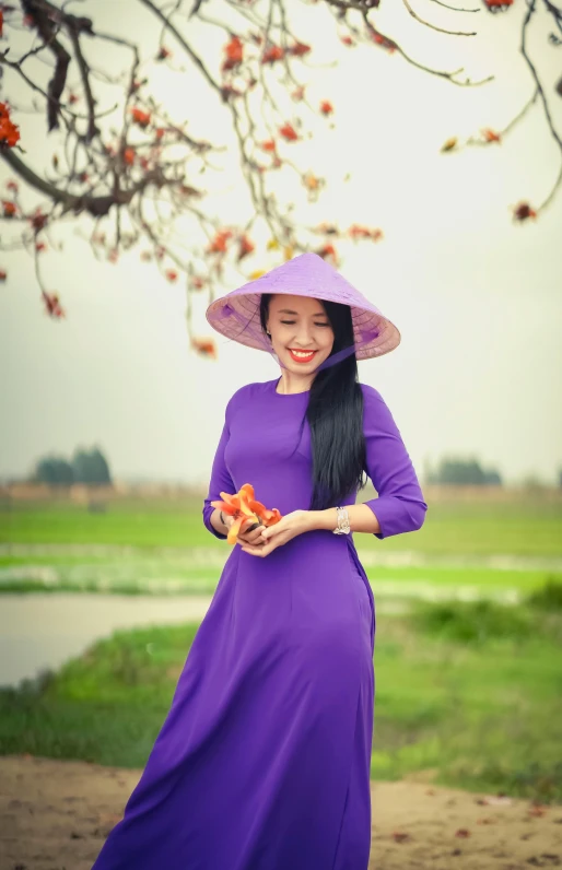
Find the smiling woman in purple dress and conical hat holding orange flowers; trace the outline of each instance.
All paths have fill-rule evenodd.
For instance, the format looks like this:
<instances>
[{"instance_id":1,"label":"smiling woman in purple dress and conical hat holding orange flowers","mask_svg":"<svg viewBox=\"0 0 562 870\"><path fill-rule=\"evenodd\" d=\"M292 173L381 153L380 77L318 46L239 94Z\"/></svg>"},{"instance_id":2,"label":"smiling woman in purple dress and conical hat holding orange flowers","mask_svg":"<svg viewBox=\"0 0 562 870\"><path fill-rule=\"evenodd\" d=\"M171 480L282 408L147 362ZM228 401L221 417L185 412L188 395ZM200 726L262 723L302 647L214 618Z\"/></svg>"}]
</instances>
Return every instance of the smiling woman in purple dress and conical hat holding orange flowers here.
<instances>
[{"instance_id":1,"label":"smiling woman in purple dress and conical hat holding orange flowers","mask_svg":"<svg viewBox=\"0 0 562 870\"><path fill-rule=\"evenodd\" d=\"M400 334L314 254L215 299L207 317L282 371L227 402L203 522L224 540L234 520L211 502L244 483L282 518L238 531L94 868L366 870L375 613L352 532L414 531L428 506L356 363ZM378 497L355 504L364 471Z\"/></svg>"}]
</instances>

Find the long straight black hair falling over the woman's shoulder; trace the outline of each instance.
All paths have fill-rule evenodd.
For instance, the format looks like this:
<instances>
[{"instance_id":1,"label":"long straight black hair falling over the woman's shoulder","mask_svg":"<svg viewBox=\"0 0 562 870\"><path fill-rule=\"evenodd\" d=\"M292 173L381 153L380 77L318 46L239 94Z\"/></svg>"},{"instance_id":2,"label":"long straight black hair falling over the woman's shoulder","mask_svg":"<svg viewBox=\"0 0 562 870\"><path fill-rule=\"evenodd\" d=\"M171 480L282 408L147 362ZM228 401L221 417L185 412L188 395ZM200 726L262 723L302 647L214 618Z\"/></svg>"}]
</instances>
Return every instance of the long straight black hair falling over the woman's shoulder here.
<instances>
[{"instance_id":1,"label":"long straight black hair falling over the woman's shoulder","mask_svg":"<svg viewBox=\"0 0 562 870\"><path fill-rule=\"evenodd\" d=\"M264 332L271 293L262 293L259 318ZM351 309L339 302L318 299L333 330L330 356L354 342ZM308 510L324 510L340 504L352 491L361 490L365 467L363 392L358 361L352 353L323 368L313 380L306 416L311 427L313 494Z\"/></svg>"}]
</instances>

